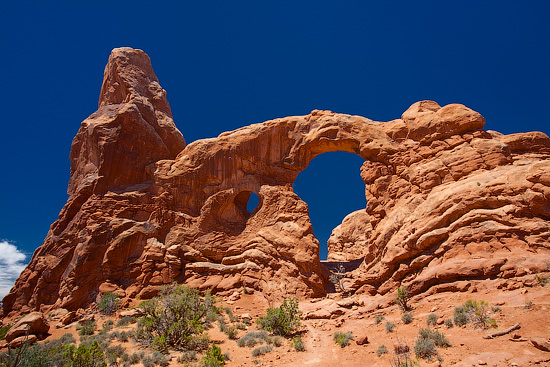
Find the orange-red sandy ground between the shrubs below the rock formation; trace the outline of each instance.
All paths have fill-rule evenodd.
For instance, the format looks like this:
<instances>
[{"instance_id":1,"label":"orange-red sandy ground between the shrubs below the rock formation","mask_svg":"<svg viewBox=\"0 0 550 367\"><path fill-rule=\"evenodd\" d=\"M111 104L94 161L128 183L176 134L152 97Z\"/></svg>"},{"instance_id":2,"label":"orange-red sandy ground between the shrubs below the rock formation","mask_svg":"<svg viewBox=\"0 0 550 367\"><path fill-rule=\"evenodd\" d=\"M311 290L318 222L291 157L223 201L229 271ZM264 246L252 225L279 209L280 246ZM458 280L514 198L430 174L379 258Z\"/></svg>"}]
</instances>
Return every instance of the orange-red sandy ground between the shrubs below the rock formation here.
<instances>
[{"instance_id":1,"label":"orange-red sandy ground between the shrubs below the rock formation","mask_svg":"<svg viewBox=\"0 0 550 367\"><path fill-rule=\"evenodd\" d=\"M426 327L426 319L430 313L438 315L439 325L435 329L443 332L452 346L438 348L442 361L418 360L418 366L550 366L550 352L536 349L529 341L532 337L541 337L550 340L550 285L540 285L531 288L518 288L505 291L492 287L490 282L479 283L473 290L464 293L439 293L422 299L412 299L412 323L405 325L401 321L402 312L391 302L394 295L386 297L355 297L360 305L350 308L338 308L328 319L302 320L299 334L305 342L306 350L295 351L290 347L290 339L284 339L282 346L260 357L253 357L254 348L238 347L236 340L230 340L219 331L217 324L208 331L211 339L229 353L227 366L392 366L394 346L401 343L411 349L414 357L414 344L418 331ZM300 302L300 309L304 316L316 309L332 309L339 295L330 295L325 299L305 300ZM447 328L443 320L453 317L453 310L466 300L485 300L491 306L498 306L499 312L492 315L498 323L497 329L475 329L472 326ZM526 307L532 303L530 307ZM253 320L265 314L269 302L259 293L242 294L234 301L223 302L225 307L232 309L235 315L249 314ZM278 304L275 304L277 306ZM332 308L331 308L332 307ZM375 324L377 315L384 320ZM97 316L100 327L107 318ZM116 321L116 317L112 318ZM396 324L393 332L385 330L385 323ZM521 328L507 335L494 339L484 339L489 333L504 330L516 323ZM53 324L53 323L52 323ZM131 330L135 325L119 330ZM239 330L238 336L255 329L252 323L248 330ZM336 331L351 331L357 337L366 335L368 344L357 345L355 341L345 348L341 348L333 341ZM47 340L61 337L65 333L72 333L78 340L75 325L68 328L51 328L51 335ZM513 336L515 335L515 339ZM116 342L113 342L115 344ZM131 340L122 343L127 352L132 353L143 349ZM386 346L390 353L378 356L380 346ZM176 361L181 352L174 352L170 366L181 366ZM136 366L140 366L139 364Z\"/></svg>"}]
</instances>

